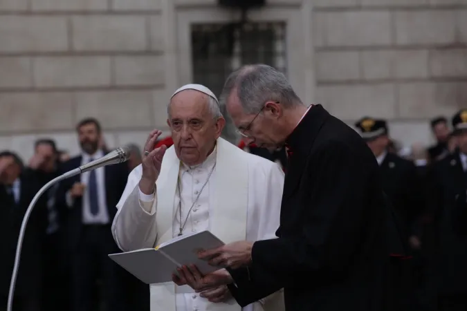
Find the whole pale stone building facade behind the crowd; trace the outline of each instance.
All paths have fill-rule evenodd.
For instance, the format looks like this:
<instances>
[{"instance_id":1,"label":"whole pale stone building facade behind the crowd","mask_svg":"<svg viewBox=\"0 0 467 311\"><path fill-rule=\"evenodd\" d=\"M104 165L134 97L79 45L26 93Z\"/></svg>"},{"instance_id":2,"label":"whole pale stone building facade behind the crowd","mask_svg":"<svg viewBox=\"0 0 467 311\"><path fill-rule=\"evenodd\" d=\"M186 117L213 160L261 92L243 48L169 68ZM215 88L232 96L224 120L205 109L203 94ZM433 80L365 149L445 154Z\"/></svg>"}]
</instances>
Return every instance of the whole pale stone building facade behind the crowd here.
<instances>
[{"instance_id":1,"label":"whole pale stone building facade behind the crowd","mask_svg":"<svg viewBox=\"0 0 467 311\"><path fill-rule=\"evenodd\" d=\"M404 144L428 144L430 117L467 107L467 0L267 3L248 19L284 25L273 57L304 102L349 123L387 118ZM237 19L217 0L0 0L0 149L28 158L35 139L53 137L76 153L74 127L88 116L110 147L141 146L149 130L167 131L178 86L230 70L224 59L224 71L199 73L208 65L193 56L194 27ZM230 58L232 68L262 59Z\"/></svg>"}]
</instances>

